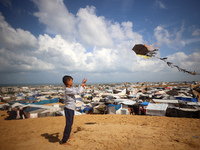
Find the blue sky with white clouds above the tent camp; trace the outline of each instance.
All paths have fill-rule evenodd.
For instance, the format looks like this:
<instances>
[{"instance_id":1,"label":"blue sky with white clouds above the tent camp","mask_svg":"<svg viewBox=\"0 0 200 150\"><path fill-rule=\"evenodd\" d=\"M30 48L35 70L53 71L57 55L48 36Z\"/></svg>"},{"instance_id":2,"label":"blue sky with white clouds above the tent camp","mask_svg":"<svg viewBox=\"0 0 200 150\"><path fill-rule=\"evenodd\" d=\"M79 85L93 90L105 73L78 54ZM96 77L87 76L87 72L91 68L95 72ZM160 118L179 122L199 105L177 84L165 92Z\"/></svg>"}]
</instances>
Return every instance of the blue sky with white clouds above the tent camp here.
<instances>
[{"instance_id":1,"label":"blue sky with white clouds above the tent camp","mask_svg":"<svg viewBox=\"0 0 200 150\"><path fill-rule=\"evenodd\" d=\"M199 81L199 0L0 0L0 84Z\"/></svg>"}]
</instances>

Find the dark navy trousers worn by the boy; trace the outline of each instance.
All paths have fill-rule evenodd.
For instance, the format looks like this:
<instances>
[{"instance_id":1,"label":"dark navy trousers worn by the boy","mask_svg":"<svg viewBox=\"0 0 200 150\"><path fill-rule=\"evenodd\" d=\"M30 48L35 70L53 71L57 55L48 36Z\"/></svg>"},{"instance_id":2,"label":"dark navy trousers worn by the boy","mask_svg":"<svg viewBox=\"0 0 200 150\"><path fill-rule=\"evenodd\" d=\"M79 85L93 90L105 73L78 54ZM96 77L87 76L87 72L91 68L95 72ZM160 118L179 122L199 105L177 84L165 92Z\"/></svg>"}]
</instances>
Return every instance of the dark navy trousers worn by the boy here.
<instances>
[{"instance_id":1,"label":"dark navy trousers worn by the boy","mask_svg":"<svg viewBox=\"0 0 200 150\"><path fill-rule=\"evenodd\" d=\"M63 133L62 143L66 143L67 140L69 139L69 136L72 130L73 120L74 120L74 110L65 108L64 111L65 111L65 118L66 118L66 126Z\"/></svg>"}]
</instances>

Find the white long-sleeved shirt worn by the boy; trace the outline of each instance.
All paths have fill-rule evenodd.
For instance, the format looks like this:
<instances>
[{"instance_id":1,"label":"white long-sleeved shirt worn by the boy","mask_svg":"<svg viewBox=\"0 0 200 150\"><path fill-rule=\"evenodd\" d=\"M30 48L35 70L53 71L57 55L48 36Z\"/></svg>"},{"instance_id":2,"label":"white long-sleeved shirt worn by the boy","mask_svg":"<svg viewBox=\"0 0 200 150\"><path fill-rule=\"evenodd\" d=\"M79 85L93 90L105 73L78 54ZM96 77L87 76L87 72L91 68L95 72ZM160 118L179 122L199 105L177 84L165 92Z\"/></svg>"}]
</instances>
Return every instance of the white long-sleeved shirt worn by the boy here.
<instances>
[{"instance_id":1,"label":"white long-sleeved shirt worn by the boy","mask_svg":"<svg viewBox=\"0 0 200 150\"><path fill-rule=\"evenodd\" d=\"M75 95L81 94L83 91L82 86L78 87L66 87L65 89L65 107L71 110L75 110L76 108L76 98Z\"/></svg>"}]
</instances>

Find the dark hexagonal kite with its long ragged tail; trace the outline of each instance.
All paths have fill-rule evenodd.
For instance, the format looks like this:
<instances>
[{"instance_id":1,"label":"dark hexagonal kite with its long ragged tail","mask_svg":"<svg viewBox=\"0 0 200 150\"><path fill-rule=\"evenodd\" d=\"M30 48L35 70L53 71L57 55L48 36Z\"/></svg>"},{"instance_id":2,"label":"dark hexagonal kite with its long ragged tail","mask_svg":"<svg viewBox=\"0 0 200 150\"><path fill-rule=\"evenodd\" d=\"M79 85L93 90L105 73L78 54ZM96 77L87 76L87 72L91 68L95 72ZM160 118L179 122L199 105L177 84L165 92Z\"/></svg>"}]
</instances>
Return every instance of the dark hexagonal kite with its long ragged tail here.
<instances>
[{"instance_id":1,"label":"dark hexagonal kite with its long ragged tail","mask_svg":"<svg viewBox=\"0 0 200 150\"><path fill-rule=\"evenodd\" d=\"M167 65L171 68L174 68L176 67L179 71L181 72L184 72L184 73L189 73L191 75L200 75L200 73L197 73L197 72L191 72L191 71L187 71L185 69L182 69L180 68L179 66L177 65L174 65L172 62L169 62L167 61L167 57L164 57L164 58L159 58L159 57L156 57L156 54L157 54L157 51L159 50L158 47L157 48L153 48L153 45L146 45L146 44L136 44L132 50L136 53L136 55L140 55L146 59L149 59L151 57L155 57L155 58L158 58L164 62L167 63Z\"/></svg>"}]
</instances>

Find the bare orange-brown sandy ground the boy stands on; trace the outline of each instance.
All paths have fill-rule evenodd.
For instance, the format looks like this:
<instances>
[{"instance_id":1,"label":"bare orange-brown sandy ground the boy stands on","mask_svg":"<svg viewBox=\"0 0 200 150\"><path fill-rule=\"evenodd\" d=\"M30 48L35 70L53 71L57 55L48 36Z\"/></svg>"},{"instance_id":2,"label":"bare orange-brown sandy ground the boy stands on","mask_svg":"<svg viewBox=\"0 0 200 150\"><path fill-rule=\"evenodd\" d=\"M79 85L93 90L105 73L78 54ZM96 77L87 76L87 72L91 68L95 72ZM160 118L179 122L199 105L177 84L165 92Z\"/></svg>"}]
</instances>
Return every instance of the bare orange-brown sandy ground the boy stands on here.
<instances>
[{"instance_id":1,"label":"bare orange-brown sandy ground the boy stands on","mask_svg":"<svg viewBox=\"0 0 200 150\"><path fill-rule=\"evenodd\" d=\"M5 112L0 112L4 114ZM0 149L200 149L200 120L156 116L75 116L72 144L62 146L65 118L3 120Z\"/></svg>"}]
</instances>

